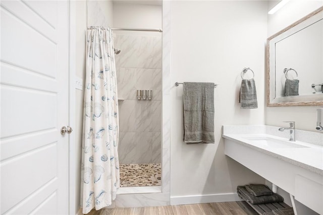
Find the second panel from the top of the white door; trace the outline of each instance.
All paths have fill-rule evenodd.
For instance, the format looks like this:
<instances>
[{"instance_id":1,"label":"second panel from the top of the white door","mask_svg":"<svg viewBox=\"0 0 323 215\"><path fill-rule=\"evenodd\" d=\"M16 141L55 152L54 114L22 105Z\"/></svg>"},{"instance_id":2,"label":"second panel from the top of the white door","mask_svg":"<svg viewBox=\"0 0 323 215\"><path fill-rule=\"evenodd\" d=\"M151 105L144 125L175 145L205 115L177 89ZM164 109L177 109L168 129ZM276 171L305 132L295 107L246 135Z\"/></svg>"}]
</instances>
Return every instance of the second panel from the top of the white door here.
<instances>
[{"instance_id":1,"label":"second panel from the top of the white door","mask_svg":"<svg viewBox=\"0 0 323 215\"><path fill-rule=\"evenodd\" d=\"M57 41L49 40L38 28L30 27L4 8L1 8L1 27L6 29L1 32L2 40L6 41L1 43L3 61L56 78Z\"/></svg>"}]
</instances>

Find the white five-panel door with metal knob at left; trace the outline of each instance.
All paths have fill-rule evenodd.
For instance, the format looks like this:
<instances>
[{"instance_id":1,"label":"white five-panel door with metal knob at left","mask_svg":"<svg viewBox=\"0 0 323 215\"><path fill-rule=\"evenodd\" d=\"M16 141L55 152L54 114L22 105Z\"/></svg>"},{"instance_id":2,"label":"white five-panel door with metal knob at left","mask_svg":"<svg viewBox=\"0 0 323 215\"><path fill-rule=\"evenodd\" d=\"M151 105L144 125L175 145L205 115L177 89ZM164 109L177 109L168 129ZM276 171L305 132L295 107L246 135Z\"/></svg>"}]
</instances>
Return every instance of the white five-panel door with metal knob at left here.
<instances>
[{"instance_id":1,"label":"white five-panel door with metal knob at left","mask_svg":"<svg viewBox=\"0 0 323 215\"><path fill-rule=\"evenodd\" d=\"M68 10L1 1L1 214L68 213Z\"/></svg>"}]
</instances>

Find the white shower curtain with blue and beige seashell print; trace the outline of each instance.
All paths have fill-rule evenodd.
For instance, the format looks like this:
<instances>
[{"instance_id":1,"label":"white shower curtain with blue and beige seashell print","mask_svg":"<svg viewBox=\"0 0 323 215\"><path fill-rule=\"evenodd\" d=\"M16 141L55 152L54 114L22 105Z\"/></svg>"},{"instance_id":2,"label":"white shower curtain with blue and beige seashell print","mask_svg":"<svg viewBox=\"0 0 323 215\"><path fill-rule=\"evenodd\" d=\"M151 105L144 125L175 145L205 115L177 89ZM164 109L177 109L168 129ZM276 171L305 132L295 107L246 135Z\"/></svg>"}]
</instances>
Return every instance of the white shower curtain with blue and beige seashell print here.
<instances>
[{"instance_id":1,"label":"white shower curtain with blue and beige seashell print","mask_svg":"<svg viewBox=\"0 0 323 215\"><path fill-rule=\"evenodd\" d=\"M82 142L83 213L111 205L120 185L115 53L110 28L87 31Z\"/></svg>"}]
</instances>

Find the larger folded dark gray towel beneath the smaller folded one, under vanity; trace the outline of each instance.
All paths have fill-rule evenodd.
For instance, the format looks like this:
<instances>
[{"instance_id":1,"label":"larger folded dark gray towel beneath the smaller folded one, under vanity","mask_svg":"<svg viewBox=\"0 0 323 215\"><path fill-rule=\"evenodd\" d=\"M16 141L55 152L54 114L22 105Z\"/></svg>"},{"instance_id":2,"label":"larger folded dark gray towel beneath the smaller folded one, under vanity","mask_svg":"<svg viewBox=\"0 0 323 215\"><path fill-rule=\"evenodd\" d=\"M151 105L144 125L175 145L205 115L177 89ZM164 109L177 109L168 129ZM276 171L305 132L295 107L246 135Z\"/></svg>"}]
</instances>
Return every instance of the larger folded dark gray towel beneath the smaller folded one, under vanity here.
<instances>
[{"instance_id":1,"label":"larger folded dark gray towel beneath the smaller folded one, under vanity","mask_svg":"<svg viewBox=\"0 0 323 215\"><path fill-rule=\"evenodd\" d=\"M262 195L262 196L254 196L251 195L244 186L238 186L237 192L248 202L251 204L265 204L265 203L273 203L273 202L282 202L284 198L277 193L273 193L272 195Z\"/></svg>"}]
</instances>

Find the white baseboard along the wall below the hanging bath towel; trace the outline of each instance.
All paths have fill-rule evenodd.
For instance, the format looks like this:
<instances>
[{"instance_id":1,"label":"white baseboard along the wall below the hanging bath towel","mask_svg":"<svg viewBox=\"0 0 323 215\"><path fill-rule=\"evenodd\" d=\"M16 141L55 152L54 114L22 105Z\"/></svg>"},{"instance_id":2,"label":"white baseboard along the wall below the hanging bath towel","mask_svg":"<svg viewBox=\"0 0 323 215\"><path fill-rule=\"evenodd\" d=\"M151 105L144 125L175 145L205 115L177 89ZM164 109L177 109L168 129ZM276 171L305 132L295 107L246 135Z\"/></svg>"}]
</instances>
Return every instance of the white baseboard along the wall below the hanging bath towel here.
<instances>
[{"instance_id":1,"label":"white baseboard along the wall below the hanging bath towel","mask_svg":"<svg viewBox=\"0 0 323 215\"><path fill-rule=\"evenodd\" d=\"M237 193L171 196L171 205L241 201Z\"/></svg>"}]
</instances>

